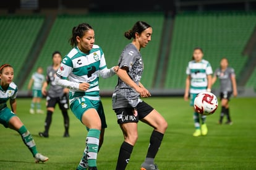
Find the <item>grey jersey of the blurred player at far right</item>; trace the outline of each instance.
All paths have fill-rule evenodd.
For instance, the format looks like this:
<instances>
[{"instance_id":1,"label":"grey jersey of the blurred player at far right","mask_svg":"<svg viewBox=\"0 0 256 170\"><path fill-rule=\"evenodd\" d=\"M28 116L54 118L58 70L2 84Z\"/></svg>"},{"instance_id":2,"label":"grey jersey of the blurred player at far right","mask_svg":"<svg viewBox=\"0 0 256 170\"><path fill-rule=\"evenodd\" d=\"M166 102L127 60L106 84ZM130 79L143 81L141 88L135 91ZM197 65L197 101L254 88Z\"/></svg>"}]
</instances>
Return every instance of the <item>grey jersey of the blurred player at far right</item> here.
<instances>
[{"instance_id":1,"label":"grey jersey of the blurred player at far right","mask_svg":"<svg viewBox=\"0 0 256 170\"><path fill-rule=\"evenodd\" d=\"M221 70L220 68L215 70L215 74L218 79L220 79L220 90L223 91L233 91L233 85L231 77L236 76L234 69L228 67L226 70Z\"/></svg>"}]
</instances>

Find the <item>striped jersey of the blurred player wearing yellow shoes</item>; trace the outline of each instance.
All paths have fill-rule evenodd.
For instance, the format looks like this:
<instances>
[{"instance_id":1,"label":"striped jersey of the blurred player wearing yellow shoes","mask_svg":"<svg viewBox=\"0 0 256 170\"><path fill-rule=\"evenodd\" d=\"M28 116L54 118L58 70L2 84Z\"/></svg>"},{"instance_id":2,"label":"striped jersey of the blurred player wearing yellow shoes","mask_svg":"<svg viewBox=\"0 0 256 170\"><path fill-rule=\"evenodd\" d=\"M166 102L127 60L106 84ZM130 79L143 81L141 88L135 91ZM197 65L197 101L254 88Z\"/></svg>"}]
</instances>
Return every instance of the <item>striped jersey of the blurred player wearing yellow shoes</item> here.
<instances>
[{"instance_id":1,"label":"striped jersey of the blurred player wearing yellow shoes","mask_svg":"<svg viewBox=\"0 0 256 170\"><path fill-rule=\"evenodd\" d=\"M189 61L186 74L190 75L190 93L198 94L206 91L207 75L213 74L210 62L202 59L200 62Z\"/></svg>"}]
</instances>

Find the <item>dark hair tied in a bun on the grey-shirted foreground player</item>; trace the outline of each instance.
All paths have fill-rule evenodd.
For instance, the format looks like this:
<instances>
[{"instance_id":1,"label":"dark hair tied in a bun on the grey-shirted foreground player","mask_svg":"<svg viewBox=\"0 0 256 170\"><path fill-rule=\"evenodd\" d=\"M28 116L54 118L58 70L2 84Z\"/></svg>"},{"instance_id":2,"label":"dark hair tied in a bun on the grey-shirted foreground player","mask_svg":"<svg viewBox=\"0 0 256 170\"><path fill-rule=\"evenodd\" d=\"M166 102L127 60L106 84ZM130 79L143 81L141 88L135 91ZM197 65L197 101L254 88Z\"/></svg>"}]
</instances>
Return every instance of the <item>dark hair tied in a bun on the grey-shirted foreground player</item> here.
<instances>
[{"instance_id":1,"label":"dark hair tied in a bun on the grey-shirted foreground player","mask_svg":"<svg viewBox=\"0 0 256 170\"><path fill-rule=\"evenodd\" d=\"M135 38L135 33L142 33L147 28L151 27L147 22L143 21L137 21L134 24L134 27L132 27L132 30L128 30L127 32L124 32L124 36L130 40L132 38Z\"/></svg>"}]
</instances>

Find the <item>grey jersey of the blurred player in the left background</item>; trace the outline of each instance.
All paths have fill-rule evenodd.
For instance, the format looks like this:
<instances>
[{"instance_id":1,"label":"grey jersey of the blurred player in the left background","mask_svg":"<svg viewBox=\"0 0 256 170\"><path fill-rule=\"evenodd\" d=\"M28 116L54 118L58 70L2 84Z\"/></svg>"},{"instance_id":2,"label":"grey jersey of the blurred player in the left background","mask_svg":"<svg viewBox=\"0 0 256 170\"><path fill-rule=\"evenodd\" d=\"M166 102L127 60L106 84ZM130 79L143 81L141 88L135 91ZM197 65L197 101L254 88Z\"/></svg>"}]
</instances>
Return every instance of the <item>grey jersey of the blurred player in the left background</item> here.
<instances>
[{"instance_id":1,"label":"grey jersey of the blurred player in the left background","mask_svg":"<svg viewBox=\"0 0 256 170\"><path fill-rule=\"evenodd\" d=\"M47 67L46 70L46 82L49 85L49 89L48 89L48 96L52 97L52 98L58 98L64 95L63 92L63 87L56 85L56 83L54 82L54 79L56 77L56 72L57 70L53 69L53 66L49 66Z\"/></svg>"}]
</instances>

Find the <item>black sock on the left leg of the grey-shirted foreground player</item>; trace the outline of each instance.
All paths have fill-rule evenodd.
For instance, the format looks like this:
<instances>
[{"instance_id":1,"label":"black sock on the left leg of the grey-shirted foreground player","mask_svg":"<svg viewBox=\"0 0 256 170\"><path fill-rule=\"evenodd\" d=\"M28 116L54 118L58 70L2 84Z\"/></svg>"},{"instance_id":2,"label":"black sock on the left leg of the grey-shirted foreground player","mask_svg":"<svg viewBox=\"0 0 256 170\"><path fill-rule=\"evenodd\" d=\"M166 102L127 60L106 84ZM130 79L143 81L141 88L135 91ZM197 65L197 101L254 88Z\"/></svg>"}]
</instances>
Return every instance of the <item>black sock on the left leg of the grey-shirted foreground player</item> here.
<instances>
[{"instance_id":1,"label":"black sock on the left leg of the grey-shirted foreground player","mask_svg":"<svg viewBox=\"0 0 256 170\"><path fill-rule=\"evenodd\" d=\"M129 163L130 154L132 153L133 148L134 146L130 145L127 142L122 143L119 151L119 156L117 159L116 170L126 169L126 166Z\"/></svg>"}]
</instances>

